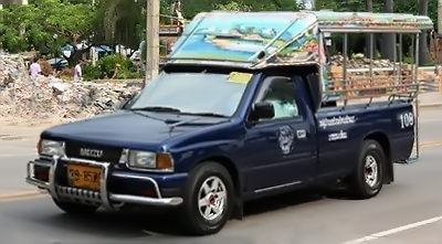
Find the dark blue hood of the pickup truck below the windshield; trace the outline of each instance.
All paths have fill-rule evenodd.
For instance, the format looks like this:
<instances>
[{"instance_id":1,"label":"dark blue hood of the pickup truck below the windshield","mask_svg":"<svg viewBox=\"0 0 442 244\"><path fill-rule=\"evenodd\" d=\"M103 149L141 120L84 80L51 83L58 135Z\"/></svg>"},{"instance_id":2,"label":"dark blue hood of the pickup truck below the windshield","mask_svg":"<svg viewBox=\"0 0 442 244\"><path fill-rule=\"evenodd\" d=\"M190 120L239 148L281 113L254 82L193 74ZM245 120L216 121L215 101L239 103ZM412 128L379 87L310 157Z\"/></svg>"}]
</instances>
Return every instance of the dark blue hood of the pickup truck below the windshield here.
<instances>
[{"instance_id":1,"label":"dark blue hood of the pickup truck below the windshield","mask_svg":"<svg viewBox=\"0 0 442 244\"><path fill-rule=\"evenodd\" d=\"M157 150L169 138L223 120L227 119L119 110L52 127L42 132L42 138ZM170 129L176 123L180 125Z\"/></svg>"}]
</instances>

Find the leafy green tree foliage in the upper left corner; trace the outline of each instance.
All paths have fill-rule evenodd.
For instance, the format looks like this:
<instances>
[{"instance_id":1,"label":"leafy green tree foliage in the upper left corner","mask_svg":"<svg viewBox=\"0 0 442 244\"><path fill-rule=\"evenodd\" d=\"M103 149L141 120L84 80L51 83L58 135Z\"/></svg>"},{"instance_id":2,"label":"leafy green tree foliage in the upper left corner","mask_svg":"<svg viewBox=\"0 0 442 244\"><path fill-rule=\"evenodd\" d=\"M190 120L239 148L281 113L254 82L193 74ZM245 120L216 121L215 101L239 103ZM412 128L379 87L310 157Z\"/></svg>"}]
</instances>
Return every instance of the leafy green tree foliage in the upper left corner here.
<instances>
[{"instance_id":1,"label":"leafy green tree foliage in the upper left corner","mask_svg":"<svg viewBox=\"0 0 442 244\"><path fill-rule=\"evenodd\" d=\"M1 11L0 41L11 51L40 50L56 53L65 44L74 46L70 61L82 52L76 49L93 34L95 13L90 3L60 0L34 0L29 6L9 6Z\"/></svg>"}]
</instances>

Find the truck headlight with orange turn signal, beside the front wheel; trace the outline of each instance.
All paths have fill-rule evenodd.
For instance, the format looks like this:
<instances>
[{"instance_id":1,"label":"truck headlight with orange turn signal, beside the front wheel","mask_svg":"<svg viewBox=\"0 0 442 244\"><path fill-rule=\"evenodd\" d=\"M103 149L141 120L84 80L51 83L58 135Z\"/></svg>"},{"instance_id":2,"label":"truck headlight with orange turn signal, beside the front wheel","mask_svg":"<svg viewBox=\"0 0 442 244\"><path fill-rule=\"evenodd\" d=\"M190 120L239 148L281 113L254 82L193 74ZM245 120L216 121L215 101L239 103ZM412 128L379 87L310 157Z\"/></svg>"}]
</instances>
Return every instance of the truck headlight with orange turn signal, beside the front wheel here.
<instances>
[{"instance_id":1,"label":"truck headlight with orange turn signal, beside the front wheel","mask_svg":"<svg viewBox=\"0 0 442 244\"><path fill-rule=\"evenodd\" d=\"M168 153L151 151L130 150L127 165L129 168L140 170L173 170L173 160Z\"/></svg>"}]
</instances>

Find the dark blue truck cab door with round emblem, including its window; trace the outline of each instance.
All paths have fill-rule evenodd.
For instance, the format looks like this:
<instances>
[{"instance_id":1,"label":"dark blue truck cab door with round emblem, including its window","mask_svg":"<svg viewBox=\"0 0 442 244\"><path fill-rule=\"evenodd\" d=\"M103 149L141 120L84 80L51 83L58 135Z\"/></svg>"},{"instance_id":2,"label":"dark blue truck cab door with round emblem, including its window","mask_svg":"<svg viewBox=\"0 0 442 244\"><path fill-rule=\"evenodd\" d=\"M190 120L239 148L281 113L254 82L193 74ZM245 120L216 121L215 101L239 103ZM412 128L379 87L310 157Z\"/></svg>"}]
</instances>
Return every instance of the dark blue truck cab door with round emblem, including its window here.
<instances>
[{"instance_id":1,"label":"dark blue truck cab door with round emblem, including its window","mask_svg":"<svg viewBox=\"0 0 442 244\"><path fill-rule=\"evenodd\" d=\"M243 146L248 191L264 192L298 184L316 173L316 138L309 119L299 109L301 97L287 77L266 77L254 103L269 102L272 119L249 119Z\"/></svg>"}]
</instances>

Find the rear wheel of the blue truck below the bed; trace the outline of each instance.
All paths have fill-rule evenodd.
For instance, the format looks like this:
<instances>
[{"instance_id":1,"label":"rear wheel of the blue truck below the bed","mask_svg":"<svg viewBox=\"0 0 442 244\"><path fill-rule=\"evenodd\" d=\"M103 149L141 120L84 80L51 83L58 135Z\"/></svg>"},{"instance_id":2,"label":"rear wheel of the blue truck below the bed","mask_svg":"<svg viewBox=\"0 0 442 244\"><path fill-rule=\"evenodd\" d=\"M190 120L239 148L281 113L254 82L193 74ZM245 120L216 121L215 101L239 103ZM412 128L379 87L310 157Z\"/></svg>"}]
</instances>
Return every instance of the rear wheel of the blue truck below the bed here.
<instances>
[{"instance_id":1,"label":"rear wheel of the blue truck below the bed","mask_svg":"<svg viewBox=\"0 0 442 244\"><path fill-rule=\"evenodd\" d=\"M365 140L357 167L349 179L350 190L357 199L370 199L381 191L387 163L380 144L376 140Z\"/></svg>"}]
</instances>

